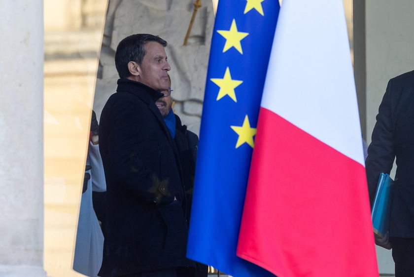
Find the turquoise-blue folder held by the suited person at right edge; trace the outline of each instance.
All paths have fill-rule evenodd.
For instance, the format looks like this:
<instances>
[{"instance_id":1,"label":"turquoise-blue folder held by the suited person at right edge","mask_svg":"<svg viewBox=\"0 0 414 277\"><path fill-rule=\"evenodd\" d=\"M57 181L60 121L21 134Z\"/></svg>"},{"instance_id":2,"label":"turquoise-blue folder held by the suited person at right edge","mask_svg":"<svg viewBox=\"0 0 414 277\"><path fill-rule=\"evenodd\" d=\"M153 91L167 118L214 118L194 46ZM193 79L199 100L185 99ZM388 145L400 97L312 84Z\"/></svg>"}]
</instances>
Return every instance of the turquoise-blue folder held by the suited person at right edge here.
<instances>
[{"instance_id":1,"label":"turquoise-blue folder held by the suited person at right edge","mask_svg":"<svg viewBox=\"0 0 414 277\"><path fill-rule=\"evenodd\" d=\"M389 230L393 184L394 181L388 174L380 174L371 213L374 233L378 237L385 236Z\"/></svg>"}]
</instances>

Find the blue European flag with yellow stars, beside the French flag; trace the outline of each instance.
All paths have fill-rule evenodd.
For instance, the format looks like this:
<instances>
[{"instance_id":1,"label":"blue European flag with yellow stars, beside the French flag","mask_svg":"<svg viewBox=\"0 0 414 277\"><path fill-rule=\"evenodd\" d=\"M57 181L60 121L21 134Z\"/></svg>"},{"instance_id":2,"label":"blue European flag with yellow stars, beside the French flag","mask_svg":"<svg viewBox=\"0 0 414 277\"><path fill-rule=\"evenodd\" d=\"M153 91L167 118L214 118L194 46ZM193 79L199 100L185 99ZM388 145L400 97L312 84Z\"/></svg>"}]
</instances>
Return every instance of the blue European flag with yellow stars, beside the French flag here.
<instances>
[{"instance_id":1,"label":"blue European flag with yellow stars, beside the French flag","mask_svg":"<svg viewBox=\"0 0 414 277\"><path fill-rule=\"evenodd\" d=\"M220 0L201 120L187 256L234 277L273 274L236 256L277 0Z\"/></svg>"}]
</instances>

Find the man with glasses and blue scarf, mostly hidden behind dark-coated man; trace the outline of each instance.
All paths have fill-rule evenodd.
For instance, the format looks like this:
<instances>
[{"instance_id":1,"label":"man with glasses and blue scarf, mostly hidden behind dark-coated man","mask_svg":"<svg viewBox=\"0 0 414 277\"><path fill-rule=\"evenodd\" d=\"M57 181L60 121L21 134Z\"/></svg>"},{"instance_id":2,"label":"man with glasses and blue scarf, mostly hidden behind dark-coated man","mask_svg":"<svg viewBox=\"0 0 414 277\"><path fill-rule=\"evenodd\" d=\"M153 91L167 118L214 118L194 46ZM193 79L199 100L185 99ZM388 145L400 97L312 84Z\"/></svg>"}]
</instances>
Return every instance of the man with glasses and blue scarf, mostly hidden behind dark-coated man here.
<instances>
[{"instance_id":1,"label":"man with glasses and blue scarf, mostly hidden behind dark-coated man","mask_svg":"<svg viewBox=\"0 0 414 277\"><path fill-rule=\"evenodd\" d=\"M171 97L171 79L169 78L170 87L162 91L164 96L155 102L168 129L174 139L178 150L178 157L180 159L184 185L185 195L187 200L187 222L190 222L191 203L193 198L194 177L196 174L196 159L198 150L198 136L187 129L186 125L181 123L181 119L173 112L173 99ZM207 277L207 265L196 263L196 277Z\"/></svg>"}]
</instances>

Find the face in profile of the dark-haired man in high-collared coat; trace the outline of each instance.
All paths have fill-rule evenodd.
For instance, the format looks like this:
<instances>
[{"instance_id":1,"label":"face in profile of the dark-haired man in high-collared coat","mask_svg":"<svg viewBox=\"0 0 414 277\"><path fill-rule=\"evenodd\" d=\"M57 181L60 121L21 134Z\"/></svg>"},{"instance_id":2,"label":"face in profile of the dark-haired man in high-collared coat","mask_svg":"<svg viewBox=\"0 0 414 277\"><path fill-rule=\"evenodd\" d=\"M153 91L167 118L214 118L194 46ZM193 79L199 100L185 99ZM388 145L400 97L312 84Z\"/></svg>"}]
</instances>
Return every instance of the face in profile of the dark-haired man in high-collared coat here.
<instances>
[{"instance_id":1,"label":"face in profile of the dark-haired man in high-collared coat","mask_svg":"<svg viewBox=\"0 0 414 277\"><path fill-rule=\"evenodd\" d=\"M167 90L170 65L167 62L167 55L164 46L158 42L150 41L144 45L146 54L139 65L138 81L152 87L155 90Z\"/></svg>"}]
</instances>

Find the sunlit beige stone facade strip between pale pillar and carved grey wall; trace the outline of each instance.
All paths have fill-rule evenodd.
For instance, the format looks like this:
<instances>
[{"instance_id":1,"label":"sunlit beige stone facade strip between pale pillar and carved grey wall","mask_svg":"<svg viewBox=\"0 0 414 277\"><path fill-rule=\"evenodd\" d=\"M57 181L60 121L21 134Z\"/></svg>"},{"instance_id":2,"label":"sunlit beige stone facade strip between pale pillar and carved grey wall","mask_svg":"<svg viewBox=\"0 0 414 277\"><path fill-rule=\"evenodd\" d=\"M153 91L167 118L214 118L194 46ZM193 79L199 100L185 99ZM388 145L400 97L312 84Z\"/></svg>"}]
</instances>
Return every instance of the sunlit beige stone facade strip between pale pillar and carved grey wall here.
<instances>
[{"instance_id":1,"label":"sunlit beige stone facade strip between pale pillar and carved grey wall","mask_svg":"<svg viewBox=\"0 0 414 277\"><path fill-rule=\"evenodd\" d=\"M106 0L44 0L44 259L72 267Z\"/></svg>"}]
</instances>

